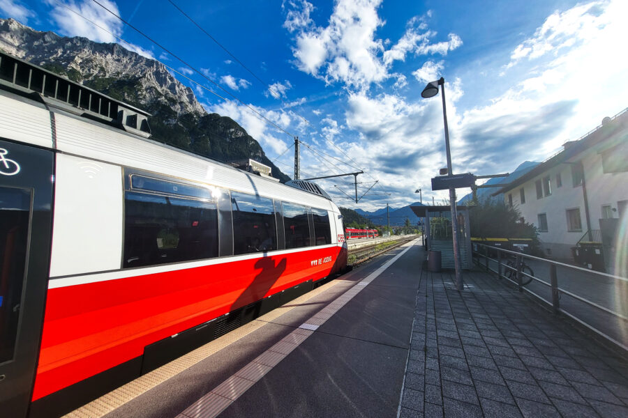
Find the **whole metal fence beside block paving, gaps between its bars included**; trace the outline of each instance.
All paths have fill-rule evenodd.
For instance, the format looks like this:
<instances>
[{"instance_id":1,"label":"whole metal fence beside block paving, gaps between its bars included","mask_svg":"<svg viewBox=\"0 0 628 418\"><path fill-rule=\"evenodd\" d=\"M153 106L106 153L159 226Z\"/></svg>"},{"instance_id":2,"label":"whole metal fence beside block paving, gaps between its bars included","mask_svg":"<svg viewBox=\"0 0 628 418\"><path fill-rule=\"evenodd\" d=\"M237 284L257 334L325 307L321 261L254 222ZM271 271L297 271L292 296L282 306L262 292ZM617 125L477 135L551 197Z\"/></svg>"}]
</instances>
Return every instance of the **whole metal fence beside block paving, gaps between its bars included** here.
<instances>
[{"instance_id":1,"label":"whole metal fence beside block paving, gaps between its bars included","mask_svg":"<svg viewBox=\"0 0 628 418\"><path fill-rule=\"evenodd\" d=\"M628 353L627 278L475 242L472 247L475 263Z\"/></svg>"}]
</instances>

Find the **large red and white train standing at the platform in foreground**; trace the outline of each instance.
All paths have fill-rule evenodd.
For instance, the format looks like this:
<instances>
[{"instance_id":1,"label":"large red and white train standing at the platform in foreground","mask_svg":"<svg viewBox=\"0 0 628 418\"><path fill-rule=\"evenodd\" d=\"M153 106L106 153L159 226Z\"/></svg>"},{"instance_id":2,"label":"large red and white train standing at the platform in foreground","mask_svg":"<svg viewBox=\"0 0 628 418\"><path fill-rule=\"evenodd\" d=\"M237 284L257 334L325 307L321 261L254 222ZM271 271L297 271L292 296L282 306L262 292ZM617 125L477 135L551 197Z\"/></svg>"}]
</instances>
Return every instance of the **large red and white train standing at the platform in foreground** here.
<instances>
[{"instance_id":1,"label":"large red and white train standing at the platform in foreground","mask_svg":"<svg viewBox=\"0 0 628 418\"><path fill-rule=\"evenodd\" d=\"M347 265L338 207L0 54L0 415L58 416Z\"/></svg>"}]
</instances>

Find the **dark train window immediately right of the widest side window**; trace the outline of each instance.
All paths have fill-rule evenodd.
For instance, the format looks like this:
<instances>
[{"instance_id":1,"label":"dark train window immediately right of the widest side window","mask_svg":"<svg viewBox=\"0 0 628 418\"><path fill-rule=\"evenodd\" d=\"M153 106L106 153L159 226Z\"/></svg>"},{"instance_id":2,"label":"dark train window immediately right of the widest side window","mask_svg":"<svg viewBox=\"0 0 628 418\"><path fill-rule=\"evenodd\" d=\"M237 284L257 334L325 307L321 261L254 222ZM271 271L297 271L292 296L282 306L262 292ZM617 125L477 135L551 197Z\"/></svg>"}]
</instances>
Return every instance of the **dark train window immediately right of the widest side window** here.
<instances>
[{"instance_id":1,"label":"dark train window immediately right of the widest side window","mask_svg":"<svg viewBox=\"0 0 628 418\"><path fill-rule=\"evenodd\" d=\"M233 254L277 249L273 199L231 192Z\"/></svg>"}]
</instances>

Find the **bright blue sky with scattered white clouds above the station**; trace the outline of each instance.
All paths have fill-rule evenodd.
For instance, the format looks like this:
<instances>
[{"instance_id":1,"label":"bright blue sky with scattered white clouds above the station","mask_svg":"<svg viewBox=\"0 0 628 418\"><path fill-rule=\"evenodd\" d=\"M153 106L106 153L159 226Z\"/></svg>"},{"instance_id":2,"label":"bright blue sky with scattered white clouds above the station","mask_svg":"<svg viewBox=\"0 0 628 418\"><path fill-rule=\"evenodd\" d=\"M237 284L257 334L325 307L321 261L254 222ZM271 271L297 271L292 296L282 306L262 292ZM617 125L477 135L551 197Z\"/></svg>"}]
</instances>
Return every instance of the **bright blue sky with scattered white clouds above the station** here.
<instances>
[{"instance_id":1,"label":"bright blue sky with scattered white clouds above the station","mask_svg":"<svg viewBox=\"0 0 628 418\"><path fill-rule=\"evenodd\" d=\"M167 0L100 3L317 150L301 147L302 178L359 167L359 195L378 180L357 206L343 194L352 177L321 181L341 206L401 207L418 200L418 188L424 200L446 198L430 186L446 167L442 102L420 96L439 77L454 173L545 160L628 107L627 1L172 1L255 76ZM0 13L40 31L119 42L61 3L215 89L94 1L0 0ZM195 90L292 176L289 135L241 102Z\"/></svg>"}]
</instances>

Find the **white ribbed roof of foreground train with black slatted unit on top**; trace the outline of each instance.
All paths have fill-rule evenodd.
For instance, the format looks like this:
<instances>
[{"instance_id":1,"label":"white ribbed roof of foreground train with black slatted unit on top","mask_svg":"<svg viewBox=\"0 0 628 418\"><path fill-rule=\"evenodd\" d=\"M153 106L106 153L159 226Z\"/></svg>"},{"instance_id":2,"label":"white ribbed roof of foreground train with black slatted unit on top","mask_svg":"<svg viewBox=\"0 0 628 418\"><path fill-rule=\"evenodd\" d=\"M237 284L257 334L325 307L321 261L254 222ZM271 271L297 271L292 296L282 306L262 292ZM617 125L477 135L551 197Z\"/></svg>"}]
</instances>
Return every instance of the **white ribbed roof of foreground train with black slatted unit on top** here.
<instances>
[{"instance_id":1,"label":"white ribbed roof of foreground train with black slatted unit on top","mask_svg":"<svg viewBox=\"0 0 628 418\"><path fill-rule=\"evenodd\" d=\"M52 85L57 97L47 95ZM67 101L59 98L59 86L68 92L63 96L69 98ZM128 112L136 112L138 118L147 117L146 112L2 53L0 92L0 130L8 139L121 167L338 211L320 187L321 194L290 187L153 141L149 130L127 126L123 122L129 118L119 118L121 113L128 116ZM117 109L117 115L111 110L107 115L96 114L94 102L107 103L107 109ZM82 106L86 103L89 109ZM148 123L142 126L148 127Z\"/></svg>"}]
</instances>

